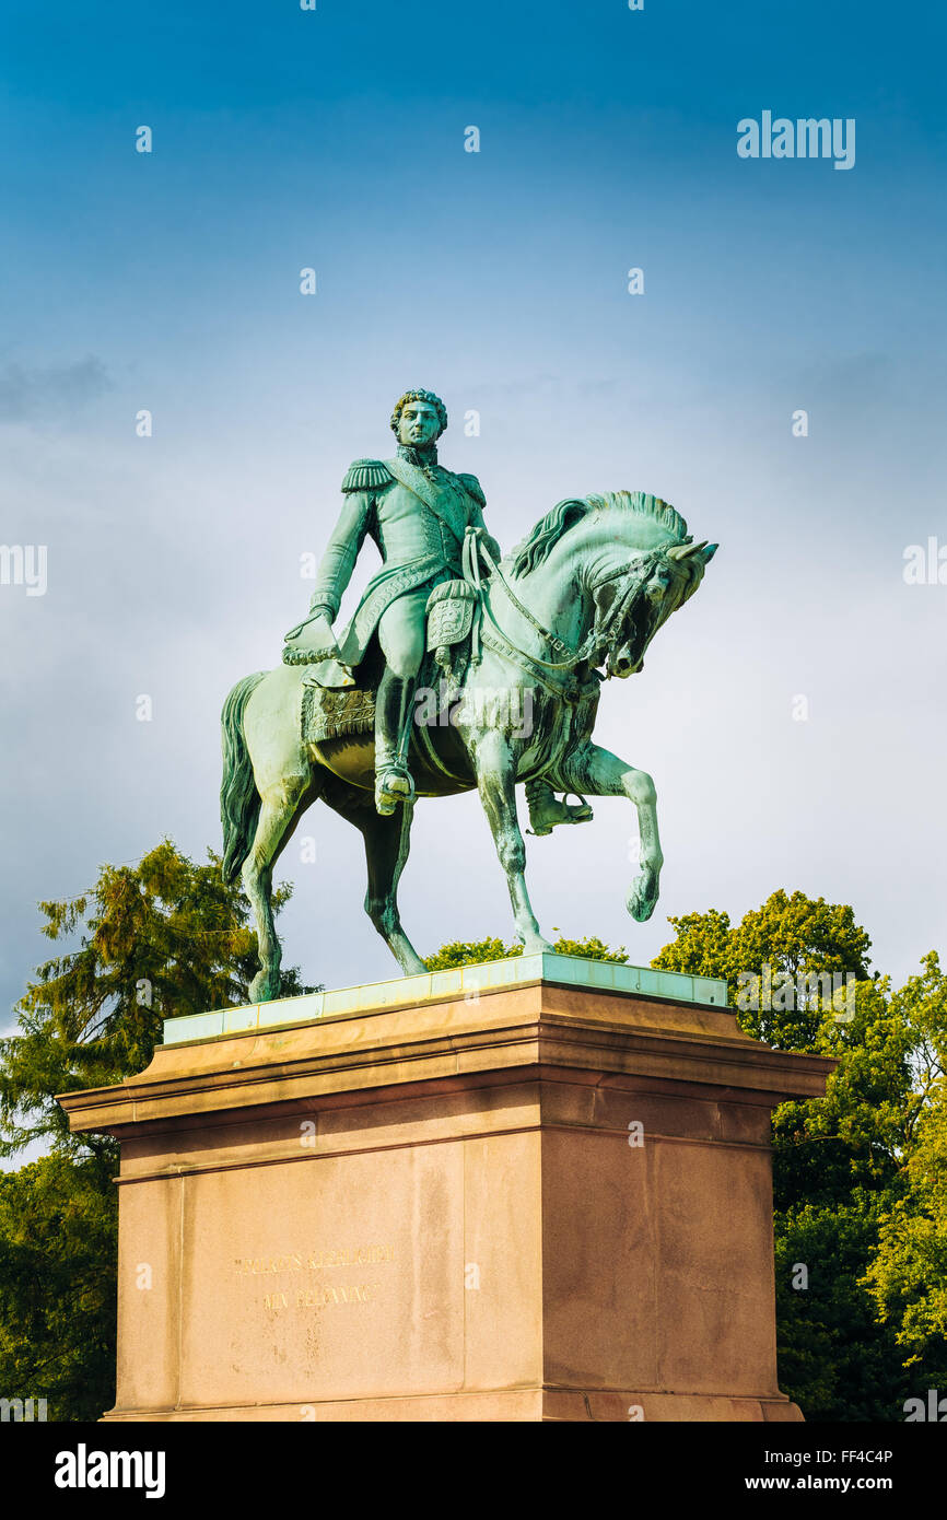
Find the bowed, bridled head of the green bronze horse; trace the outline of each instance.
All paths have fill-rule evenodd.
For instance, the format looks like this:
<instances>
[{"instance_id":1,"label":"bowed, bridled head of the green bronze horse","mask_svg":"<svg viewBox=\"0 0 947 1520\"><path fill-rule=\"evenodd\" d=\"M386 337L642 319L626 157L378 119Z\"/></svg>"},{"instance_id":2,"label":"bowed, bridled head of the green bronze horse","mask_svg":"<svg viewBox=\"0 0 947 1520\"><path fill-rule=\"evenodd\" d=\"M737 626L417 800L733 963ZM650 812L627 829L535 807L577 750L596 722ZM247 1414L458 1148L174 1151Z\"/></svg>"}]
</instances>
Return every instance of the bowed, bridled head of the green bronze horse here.
<instances>
[{"instance_id":1,"label":"bowed, bridled head of the green bronze horse","mask_svg":"<svg viewBox=\"0 0 947 1520\"><path fill-rule=\"evenodd\" d=\"M593 664L610 676L635 675L661 623L693 596L717 546L660 544L590 585L596 605Z\"/></svg>"}]
</instances>

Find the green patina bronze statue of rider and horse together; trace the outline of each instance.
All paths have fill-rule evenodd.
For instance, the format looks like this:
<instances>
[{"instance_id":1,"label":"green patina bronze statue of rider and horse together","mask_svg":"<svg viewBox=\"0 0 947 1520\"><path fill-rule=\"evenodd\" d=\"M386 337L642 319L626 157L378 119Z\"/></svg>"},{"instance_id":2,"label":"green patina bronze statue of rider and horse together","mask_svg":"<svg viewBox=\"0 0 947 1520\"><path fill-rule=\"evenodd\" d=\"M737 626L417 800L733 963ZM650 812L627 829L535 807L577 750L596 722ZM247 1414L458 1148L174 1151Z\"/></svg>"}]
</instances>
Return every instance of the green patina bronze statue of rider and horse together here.
<instances>
[{"instance_id":1,"label":"green patina bronze statue of rider and horse together","mask_svg":"<svg viewBox=\"0 0 947 1520\"><path fill-rule=\"evenodd\" d=\"M444 403L409 391L391 426L397 454L359 459L342 482L310 616L286 635L283 664L237 682L223 707L223 868L242 876L257 918L255 1002L280 986L274 863L316 800L362 831L365 907L406 973L423 970L397 907L418 796L479 789L527 952L549 944L526 891L517 781L534 834L590 819L584 793L629 798L641 854L628 909L645 921L658 898L654 784L591 730L602 679L641 669L716 544L695 544L657 497L616 491L559 502L503 556L476 476L438 464ZM383 564L336 641L366 537Z\"/></svg>"}]
</instances>

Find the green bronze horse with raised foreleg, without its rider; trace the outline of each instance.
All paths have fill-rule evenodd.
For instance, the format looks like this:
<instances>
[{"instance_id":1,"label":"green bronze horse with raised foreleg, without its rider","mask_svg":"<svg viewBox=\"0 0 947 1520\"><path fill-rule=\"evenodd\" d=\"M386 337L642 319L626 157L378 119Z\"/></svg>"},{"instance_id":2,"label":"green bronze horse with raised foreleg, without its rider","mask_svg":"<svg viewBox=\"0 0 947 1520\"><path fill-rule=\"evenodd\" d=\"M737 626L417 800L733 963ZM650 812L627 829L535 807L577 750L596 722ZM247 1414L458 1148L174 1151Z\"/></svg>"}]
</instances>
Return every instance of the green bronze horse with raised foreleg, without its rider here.
<instances>
[{"instance_id":1,"label":"green bronze horse with raised foreleg, without its rider","mask_svg":"<svg viewBox=\"0 0 947 1520\"><path fill-rule=\"evenodd\" d=\"M441 643L432 649L415 693L416 798L479 790L506 874L515 933L529 955L552 947L526 889L517 781L576 795L582 804L587 795L626 796L637 809L641 839L626 906L645 923L658 900L663 865L654 783L593 743L591 730L602 681L641 670L655 632L693 596L717 546L693 543L687 523L666 502L614 491L561 502L499 564L476 543L468 547L465 581L448 582L474 603L465 648ZM257 921L260 971L251 983L252 1002L280 994L272 872L316 800L360 830L368 863L365 909L404 974L424 971L401 927L397 898L415 796L388 816L374 806L374 736L366 714L378 664L375 648L357 667L354 690L325 693L336 707L324 705L315 727L319 693L307 687L299 666L245 676L223 705L223 874L228 882L242 879ZM562 821L588 816L585 806Z\"/></svg>"}]
</instances>

